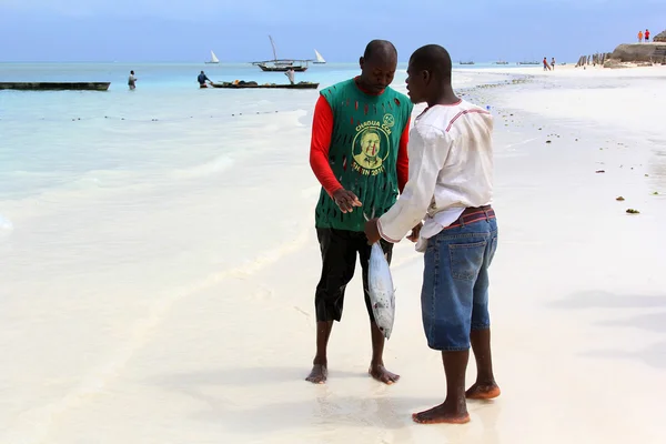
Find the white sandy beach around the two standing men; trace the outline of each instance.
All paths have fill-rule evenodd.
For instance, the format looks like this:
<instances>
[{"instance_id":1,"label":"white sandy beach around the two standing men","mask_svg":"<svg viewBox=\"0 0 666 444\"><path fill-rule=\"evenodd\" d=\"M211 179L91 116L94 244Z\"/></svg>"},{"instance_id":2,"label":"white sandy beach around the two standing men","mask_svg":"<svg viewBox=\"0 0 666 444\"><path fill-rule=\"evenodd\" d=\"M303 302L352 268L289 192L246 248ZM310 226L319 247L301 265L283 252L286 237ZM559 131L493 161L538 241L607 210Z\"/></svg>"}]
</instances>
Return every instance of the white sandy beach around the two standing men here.
<instances>
[{"instance_id":1,"label":"white sandy beach around the two standing men","mask_svg":"<svg viewBox=\"0 0 666 444\"><path fill-rule=\"evenodd\" d=\"M184 180L151 196L173 178L143 178L94 202L72 189L0 208L13 225L0 233L0 443L666 442L666 67L495 71L533 79L468 95L496 119L491 316L503 391L471 402L471 423L411 420L446 387L422 330L423 256L406 240L385 351L400 382L367 376L360 268L329 382L304 381L319 183L311 112L289 111L262 127L239 117L228 141L271 143L234 157L205 190Z\"/></svg>"}]
</instances>

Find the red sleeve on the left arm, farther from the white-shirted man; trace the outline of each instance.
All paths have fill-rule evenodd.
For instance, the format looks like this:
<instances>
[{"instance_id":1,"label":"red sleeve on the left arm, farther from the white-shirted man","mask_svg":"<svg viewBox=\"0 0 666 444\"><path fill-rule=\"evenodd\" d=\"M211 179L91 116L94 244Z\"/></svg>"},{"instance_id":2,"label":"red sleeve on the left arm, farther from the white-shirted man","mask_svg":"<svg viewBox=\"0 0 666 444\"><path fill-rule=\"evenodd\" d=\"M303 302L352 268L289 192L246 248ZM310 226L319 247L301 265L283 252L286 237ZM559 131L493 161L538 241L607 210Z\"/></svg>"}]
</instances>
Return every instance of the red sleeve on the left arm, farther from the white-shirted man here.
<instances>
[{"instance_id":1,"label":"red sleeve on the left arm, farther from the white-shirted man","mask_svg":"<svg viewBox=\"0 0 666 444\"><path fill-rule=\"evenodd\" d=\"M335 191L342 188L329 163L329 148L331 147L332 134L333 110L326 99L320 95L314 107L314 118L312 121L310 167L329 195L333 195Z\"/></svg>"}]
</instances>

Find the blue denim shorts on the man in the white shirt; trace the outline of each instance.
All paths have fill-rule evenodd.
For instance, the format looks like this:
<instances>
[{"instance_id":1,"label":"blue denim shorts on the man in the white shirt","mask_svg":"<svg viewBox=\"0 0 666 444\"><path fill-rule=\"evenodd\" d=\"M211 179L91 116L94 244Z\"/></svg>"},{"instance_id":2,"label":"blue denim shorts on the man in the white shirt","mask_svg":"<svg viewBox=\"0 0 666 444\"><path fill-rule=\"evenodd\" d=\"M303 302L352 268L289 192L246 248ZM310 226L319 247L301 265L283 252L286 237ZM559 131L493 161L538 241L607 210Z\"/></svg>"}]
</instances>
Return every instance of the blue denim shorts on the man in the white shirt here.
<instances>
[{"instance_id":1,"label":"blue denim shorts on the man in the white shirt","mask_svg":"<svg viewBox=\"0 0 666 444\"><path fill-rule=\"evenodd\" d=\"M421 311L431 349L468 350L470 332L491 326L488 266L496 250L494 218L446 228L428 239Z\"/></svg>"}]
</instances>

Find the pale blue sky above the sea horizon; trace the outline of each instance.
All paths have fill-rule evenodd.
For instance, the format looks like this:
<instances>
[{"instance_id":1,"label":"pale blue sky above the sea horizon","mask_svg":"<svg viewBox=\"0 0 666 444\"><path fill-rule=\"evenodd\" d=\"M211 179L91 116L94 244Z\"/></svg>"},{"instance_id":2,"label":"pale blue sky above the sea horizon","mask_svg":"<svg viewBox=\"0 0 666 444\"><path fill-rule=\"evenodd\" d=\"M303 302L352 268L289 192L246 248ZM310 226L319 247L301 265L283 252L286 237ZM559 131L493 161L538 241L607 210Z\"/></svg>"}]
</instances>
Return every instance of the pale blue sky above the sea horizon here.
<instances>
[{"instance_id":1,"label":"pale blue sky above the sea horizon","mask_svg":"<svg viewBox=\"0 0 666 444\"><path fill-rule=\"evenodd\" d=\"M0 0L0 62L355 62L372 39L398 59L576 61L666 29L666 0Z\"/></svg>"}]
</instances>

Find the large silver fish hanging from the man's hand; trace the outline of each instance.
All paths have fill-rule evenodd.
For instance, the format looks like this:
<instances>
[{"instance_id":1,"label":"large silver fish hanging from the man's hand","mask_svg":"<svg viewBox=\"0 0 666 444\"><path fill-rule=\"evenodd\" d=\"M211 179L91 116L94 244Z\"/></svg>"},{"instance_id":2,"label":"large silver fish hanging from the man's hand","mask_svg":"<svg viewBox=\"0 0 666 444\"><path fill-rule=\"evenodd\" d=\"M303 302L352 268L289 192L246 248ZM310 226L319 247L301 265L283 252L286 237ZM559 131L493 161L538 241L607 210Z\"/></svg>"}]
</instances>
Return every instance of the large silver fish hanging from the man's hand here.
<instances>
[{"instance_id":1,"label":"large silver fish hanging from the man's hand","mask_svg":"<svg viewBox=\"0 0 666 444\"><path fill-rule=\"evenodd\" d=\"M367 269L367 286L372 313L384 337L391 337L395 317L395 289L389 261L379 242L372 244Z\"/></svg>"}]
</instances>

